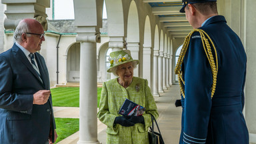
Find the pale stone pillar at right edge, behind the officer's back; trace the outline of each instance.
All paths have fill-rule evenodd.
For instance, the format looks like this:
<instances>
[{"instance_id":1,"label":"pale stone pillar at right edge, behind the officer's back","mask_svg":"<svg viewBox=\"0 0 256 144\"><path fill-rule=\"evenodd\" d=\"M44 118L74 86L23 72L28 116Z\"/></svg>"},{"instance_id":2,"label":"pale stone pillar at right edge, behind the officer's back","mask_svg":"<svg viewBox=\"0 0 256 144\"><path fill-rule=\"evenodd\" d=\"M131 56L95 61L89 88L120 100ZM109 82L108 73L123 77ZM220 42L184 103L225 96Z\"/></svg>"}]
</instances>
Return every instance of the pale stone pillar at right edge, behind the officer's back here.
<instances>
[{"instance_id":1,"label":"pale stone pillar at right edge, behind the officer's back","mask_svg":"<svg viewBox=\"0 0 256 144\"><path fill-rule=\"evenodd\" d=\"M247 0L245 1L244 13L245 13L245 31L244 31L244 41L243 45L245 47L245 51L247 53L247 74L245 81L245 120L247 123L247 127L249 130L250 143L256 143L256 75L255 75L255 61L256 61L256 49L255 49L255 39L256 39L256 21L255 15L253 11L255 11L255 0ZM252 20L252 17L254 19ZM235 25L235 24L234 24Z\"/></svg>"}]
</instances>

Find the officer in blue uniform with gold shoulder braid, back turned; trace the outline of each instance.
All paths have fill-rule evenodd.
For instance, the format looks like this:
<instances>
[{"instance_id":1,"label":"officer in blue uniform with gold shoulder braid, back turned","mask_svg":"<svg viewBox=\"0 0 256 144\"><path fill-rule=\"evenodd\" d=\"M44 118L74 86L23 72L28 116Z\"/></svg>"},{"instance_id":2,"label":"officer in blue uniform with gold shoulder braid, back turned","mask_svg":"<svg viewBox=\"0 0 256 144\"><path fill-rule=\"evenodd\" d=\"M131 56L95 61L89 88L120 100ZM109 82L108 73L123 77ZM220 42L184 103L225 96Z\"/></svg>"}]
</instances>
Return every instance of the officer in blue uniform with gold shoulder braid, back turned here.
<instances>
[{"instance_id":1,"label":"officer in blue uniform with gold shoulder braid, back turned","mask_svg":"<svg viewBox=\"0 0 256 144\"><path fill-rule=\"evenodd\" d=\"M194 28L175 73L181 86L181 143L249 143L243 117L247 58L239 37L217 13L217 0L183 0ZM177 101L178 102L178 101Z\"/></svg>"}]
</instances>

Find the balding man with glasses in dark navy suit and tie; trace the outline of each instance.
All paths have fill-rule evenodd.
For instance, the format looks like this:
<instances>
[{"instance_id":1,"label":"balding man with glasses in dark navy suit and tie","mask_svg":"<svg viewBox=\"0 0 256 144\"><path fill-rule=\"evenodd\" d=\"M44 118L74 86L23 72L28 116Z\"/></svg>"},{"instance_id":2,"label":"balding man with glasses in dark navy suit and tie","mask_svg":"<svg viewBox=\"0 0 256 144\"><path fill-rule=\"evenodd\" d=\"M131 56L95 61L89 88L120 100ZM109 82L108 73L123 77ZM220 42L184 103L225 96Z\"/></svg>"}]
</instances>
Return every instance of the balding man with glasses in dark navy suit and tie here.
<instances>
[{"instance_id":1,"label":"balding man with glasses in dark navy suit and tie","mask_svg":"<svg viewBox=\"0 0 256 144\"><path fill-rule=\"evenodd\" d=\"M16 42L0 54L0 143L54 143L57 138L42 25L23 19Z\"/></svg>"}]
</instances>

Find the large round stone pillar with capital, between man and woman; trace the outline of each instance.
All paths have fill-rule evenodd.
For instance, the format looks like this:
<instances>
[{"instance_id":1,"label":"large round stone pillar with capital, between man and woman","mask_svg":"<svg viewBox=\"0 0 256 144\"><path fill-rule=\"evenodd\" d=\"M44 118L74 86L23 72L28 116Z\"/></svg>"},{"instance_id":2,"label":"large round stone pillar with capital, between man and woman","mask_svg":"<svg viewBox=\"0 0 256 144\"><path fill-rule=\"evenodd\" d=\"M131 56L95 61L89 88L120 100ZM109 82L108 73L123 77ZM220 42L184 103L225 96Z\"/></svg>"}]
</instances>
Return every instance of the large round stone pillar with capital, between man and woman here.
<instances>
[{"instance_id":1,"label":"large round stone pillar with capital, between man and woman","mask_svg":"<svg viewBox=\"0 0 256 144\"><path fill-rule=\"evenodd\" d=\"M86 31L94 33L86 33ZM97 47L99 27L77 27L80 50L80 99L78 144L99 144L97 140Z\"/></svg>"}]
</instances>

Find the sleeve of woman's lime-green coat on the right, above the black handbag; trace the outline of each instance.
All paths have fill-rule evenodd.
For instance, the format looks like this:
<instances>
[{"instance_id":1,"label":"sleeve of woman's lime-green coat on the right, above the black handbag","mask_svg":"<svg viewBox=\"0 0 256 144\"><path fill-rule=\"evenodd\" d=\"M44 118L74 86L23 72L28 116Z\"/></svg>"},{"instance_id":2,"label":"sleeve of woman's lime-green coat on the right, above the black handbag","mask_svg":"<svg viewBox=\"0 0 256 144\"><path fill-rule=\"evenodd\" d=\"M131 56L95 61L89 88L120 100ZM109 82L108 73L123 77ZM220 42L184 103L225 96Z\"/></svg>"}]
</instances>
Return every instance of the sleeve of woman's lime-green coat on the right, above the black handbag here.
<instances>
[{"instance_id":1,"label":"sleeve of woman's lime-green coat on the right, above the black handbag","mask_svg":"<svg viewBox=\"0 0 256 144\"><path fill-rule=\"evenodd\" d=\"M147 79L145 80L145 97L146 97L146 111L143 114L144 121L145 121L145 131L148 130L148 128L152 125L151 123L151 113L155 119L158 118L158 111L157 111L157 105L155 104L155 99L153 95L151 94L151 90L148 86Z\"/></svg>"}]
</instances>

